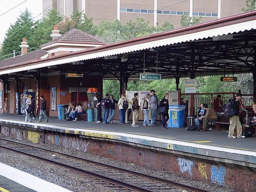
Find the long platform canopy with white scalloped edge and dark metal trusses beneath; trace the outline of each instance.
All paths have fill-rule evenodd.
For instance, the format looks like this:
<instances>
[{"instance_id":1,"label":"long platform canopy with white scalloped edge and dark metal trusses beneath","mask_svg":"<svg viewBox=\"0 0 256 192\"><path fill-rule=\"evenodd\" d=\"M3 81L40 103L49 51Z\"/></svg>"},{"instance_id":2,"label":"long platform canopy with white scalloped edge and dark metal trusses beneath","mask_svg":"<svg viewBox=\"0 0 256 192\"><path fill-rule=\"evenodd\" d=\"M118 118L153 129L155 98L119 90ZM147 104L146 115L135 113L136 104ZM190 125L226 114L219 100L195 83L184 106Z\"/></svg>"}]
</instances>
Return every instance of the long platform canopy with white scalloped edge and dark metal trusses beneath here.
<instances>
[{"instance_id":1,"label":"long platform canopy with white scalloped edge and dark metal trusses beneath","mask_svg":"<svg viewBox=\"0 0 256 192\"><path fill-rule=\"evenodd\" d=\"M0 75L52 68L62 72L161 73L162 78L252 72L256 61L256 11L106 44L51 58L0 67ZM76 65L75 65L76 64Z\"/></svg>"}]
</instances>

